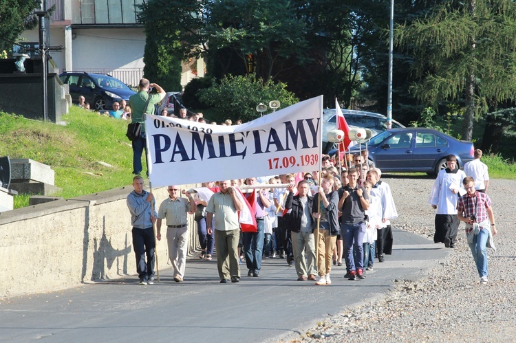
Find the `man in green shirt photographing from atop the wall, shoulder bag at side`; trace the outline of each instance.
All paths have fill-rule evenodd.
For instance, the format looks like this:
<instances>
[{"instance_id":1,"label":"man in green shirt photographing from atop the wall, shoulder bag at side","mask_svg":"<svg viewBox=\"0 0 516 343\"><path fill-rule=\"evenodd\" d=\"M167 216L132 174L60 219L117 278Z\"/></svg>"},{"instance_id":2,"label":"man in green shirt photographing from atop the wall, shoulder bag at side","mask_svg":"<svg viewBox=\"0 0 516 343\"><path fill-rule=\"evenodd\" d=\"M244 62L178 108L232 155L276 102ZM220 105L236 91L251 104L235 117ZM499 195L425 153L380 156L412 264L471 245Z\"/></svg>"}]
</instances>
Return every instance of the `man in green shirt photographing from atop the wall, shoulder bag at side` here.
<instances>
[{"instance_id":1,"label":"man in green shirt photographing from atop the wall, shoulder bag at side","mask_svg":"<svg viewBox=\"0 0 516 343\"><path fill-rule=\"evenodd\" d=\"M151 89L156 93L151 93ZM129 107L131 107L132 122L142 124L140 137L132 141L133 145L133 174L140 175L143 170L142 152L145 149L145 162L147 166L147 146L145 145L145 114L154 114L155 104L158 104L165 97L165 91L156 83L151 83L147 78L142 78L138 85L138 93L129 97ZM147 167L147 176L149 168Z\"/></svg>"}]
</instances>

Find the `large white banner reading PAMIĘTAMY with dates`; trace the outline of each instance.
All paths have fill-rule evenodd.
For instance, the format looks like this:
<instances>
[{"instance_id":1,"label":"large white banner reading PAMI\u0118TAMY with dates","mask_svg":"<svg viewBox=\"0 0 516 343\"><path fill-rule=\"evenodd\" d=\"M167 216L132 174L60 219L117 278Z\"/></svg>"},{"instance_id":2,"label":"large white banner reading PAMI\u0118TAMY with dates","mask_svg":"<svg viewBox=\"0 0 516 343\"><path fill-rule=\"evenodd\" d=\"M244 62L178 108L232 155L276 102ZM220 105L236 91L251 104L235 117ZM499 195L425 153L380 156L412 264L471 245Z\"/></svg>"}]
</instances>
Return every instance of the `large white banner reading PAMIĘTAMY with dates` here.
<instances>
[{"instance_id":1,"label":"large white banner reading PAMI\u0118TAMY with dates","mask_svg":"<svg viewBox=\"0 0 516 343\"><path fill-rule=\"evenodd\" d=\"M147 115L152 186L319 170L323 96L233 126Z\"/></svg>"}]
</instances>

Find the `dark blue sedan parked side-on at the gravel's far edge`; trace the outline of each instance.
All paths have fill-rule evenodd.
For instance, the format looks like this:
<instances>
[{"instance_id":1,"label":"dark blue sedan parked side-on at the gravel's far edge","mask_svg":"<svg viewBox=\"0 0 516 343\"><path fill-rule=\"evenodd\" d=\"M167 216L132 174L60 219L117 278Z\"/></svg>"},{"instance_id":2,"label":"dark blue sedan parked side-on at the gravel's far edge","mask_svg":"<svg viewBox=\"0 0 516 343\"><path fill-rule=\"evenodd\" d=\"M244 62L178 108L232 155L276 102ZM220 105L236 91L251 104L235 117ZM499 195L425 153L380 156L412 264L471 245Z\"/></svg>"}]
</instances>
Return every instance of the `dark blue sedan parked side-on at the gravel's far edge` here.
<instances>
[{"instance_id":1,"label":"dark blue sedan parked side-on at the gravel's far edge","mask_svg":"<svg viewBox=\"0 0 516 343\"><path fill-rule=\"evenodd\" d=\"M349 153L358 153L365 144L353 146ZM382 172L424 172L437 174L446 168L447 155L457 157L459 168L473 160L473 143L433 129L421 127L391 129L372 137L367 144L369 159Z\"/></svg>"}]
</instances>

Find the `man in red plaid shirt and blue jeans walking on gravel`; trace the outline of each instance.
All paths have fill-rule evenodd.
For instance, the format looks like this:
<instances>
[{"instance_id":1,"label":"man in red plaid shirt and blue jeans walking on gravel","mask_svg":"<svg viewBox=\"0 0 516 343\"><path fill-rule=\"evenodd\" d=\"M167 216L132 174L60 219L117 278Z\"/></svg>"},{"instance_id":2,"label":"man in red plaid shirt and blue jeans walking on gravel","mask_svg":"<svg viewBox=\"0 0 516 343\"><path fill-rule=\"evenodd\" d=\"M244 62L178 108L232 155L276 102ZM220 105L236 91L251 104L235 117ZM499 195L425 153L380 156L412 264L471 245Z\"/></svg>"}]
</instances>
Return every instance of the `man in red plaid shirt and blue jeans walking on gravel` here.
<instances>
[{"instance_id":1,"label":"man in red plaid shirt and blue jeans walking on gravel","mask_svg":"<svg viewBox=\"0 0 516 343\"><path fill-rule=\"evenodd\" d=\"M466 234L473 236L472 239L468 239L469 248L477 265L480 283L486 284L488 282L486 246L494 247L492 239L497 234L495 214L488 195L475 190L473 177L464 177L462 184L466 188L466 194L460 197L457 203L457 217L466 223Z\"/></svg>"}]
</instances>

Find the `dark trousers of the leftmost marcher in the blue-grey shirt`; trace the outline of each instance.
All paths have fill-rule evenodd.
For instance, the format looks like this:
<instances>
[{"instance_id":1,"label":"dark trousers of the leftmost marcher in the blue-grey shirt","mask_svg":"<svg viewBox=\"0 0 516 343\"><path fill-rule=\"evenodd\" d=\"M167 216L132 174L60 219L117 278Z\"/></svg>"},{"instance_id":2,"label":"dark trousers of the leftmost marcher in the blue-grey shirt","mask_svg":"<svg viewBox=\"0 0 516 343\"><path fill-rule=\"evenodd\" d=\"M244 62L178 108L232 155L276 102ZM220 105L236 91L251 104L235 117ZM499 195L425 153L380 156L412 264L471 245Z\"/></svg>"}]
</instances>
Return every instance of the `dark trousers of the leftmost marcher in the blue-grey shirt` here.
<instances>
[{"instance_id":1,"label":"dark trousers of the leftmost marcher in the blue-grey shirt","mask_svg":"<svg viewBox=\"0 0 516 343\"><path fill-rule=\"evenodd\" d=\"M147 280L154 276L154 250L155 250L153 228L133 228L133 248L136 256L136 272L140 280ZM145 256L147 255L147 263Z\"/></svg>"}]
</instances>

